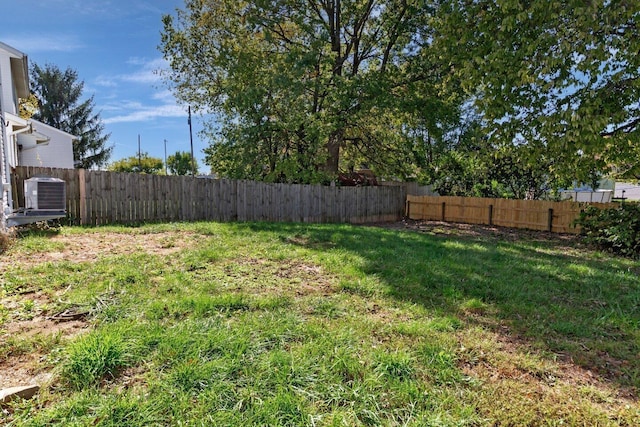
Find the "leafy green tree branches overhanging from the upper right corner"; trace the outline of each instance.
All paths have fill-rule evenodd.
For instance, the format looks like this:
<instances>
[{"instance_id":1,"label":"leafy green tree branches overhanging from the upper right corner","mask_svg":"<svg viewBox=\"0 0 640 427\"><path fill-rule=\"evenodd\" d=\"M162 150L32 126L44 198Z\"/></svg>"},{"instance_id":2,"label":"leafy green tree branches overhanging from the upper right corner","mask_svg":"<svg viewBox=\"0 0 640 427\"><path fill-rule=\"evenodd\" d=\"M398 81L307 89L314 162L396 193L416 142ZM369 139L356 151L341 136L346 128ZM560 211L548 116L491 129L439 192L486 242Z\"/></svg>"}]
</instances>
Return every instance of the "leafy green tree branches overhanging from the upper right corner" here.
<instances>
[{"instance_id":1,"label":"leafy green tree branches overhanging from the upper right corner","mask_svg":"<svg viewBox=\"0 0 640 427\"><path fill-rule=\"evenodd\" d=\"M439 16L434 46L495 144L528 145L564 181L640 179L637 3L444 0Z\"/></svg>"}]
</instances>

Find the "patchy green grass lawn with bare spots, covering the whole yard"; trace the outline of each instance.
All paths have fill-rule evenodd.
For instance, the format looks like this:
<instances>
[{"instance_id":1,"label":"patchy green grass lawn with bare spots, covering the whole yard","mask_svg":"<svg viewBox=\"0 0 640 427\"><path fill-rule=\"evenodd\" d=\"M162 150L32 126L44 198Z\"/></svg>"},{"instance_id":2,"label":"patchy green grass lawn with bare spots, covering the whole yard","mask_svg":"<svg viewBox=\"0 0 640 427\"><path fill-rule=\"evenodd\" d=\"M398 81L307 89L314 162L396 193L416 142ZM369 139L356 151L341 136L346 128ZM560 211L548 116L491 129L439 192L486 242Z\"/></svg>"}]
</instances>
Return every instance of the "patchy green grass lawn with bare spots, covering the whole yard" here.
<instances>
[{"instance_id":1,"label":"patchy green grass lawn with bare spots, covering the whole yard","mask_svg":"<svg viewBox=\"0 0 640 427\"><path fill-rule=\"evenodd\" d=\"M0 424L640 425L640 263L536 236L28 234L0 255L0 379L45 381Z\"/></svg>"}]
</instances>

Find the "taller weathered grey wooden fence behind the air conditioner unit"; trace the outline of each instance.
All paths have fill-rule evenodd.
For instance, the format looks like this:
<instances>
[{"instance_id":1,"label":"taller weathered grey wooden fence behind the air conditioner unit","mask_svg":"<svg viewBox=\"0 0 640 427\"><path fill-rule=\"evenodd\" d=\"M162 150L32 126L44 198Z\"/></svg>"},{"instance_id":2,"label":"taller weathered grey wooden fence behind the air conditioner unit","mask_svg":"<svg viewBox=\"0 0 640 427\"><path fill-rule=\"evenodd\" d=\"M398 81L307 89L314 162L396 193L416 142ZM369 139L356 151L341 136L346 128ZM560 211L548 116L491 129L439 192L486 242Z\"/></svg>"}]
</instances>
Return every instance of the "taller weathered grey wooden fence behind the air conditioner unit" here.
<instances>
[{"instance_id":1,"label":"taller weathered grey wooden fence behind the air conditioner unit","mask_svg":"<svg viewBox=\"0 0 640 427\"><path fill-rule=\"evenodd\" d=\"M406 189L327 187L141 175L82 169L18 167L14 206L24 206L25 179L66 182L73 224L160 221L273 221L371 223L402 218Z\"/></svg>"}]
</instances>

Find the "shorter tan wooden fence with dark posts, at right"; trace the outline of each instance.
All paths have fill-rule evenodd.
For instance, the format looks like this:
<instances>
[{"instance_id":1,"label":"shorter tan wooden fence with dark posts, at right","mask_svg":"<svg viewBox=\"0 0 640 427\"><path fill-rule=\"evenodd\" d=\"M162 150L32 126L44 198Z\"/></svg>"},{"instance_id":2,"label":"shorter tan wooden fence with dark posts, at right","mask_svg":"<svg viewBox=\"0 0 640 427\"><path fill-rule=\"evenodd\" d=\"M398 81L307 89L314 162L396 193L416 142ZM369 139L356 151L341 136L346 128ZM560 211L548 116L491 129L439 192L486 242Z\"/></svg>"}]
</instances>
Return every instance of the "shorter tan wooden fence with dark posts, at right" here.
<instances>
[{"instance_id":1,"label":"shorter tan wooden fence with dark posts, at right","mask_svg":"<svg viewBox=\"0 0 640 427\"><path fill-rule=\"evenodd\" d=\"M573 222L586 205L618 206L617 203L407 196L406 215L410 219L579 233Z\"/></svg>"}]
</instances>

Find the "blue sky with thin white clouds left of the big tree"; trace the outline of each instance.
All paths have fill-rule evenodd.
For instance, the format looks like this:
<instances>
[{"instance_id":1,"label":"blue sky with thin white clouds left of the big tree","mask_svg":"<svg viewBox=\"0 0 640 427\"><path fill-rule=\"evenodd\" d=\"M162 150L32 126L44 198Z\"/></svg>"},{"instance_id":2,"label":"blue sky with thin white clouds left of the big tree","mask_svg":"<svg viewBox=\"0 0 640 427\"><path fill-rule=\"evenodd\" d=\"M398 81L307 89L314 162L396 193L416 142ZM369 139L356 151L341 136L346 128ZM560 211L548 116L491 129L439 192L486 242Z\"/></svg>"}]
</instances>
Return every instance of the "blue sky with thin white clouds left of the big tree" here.
<instances>
[{"instance_id":1,"label":"blue sky with thin white clouds left of the big tree","mask_svg":"<svg viewBox=\"0 0 640 427\"><path fill-rule=\"evenodd\" d=\"M175 14L182 0L21 0L3 1L0 41L27 54L29 64L71 67L84 81L84 98L95 97L109 143L111 161L142 151L164 158L189 151L187 107L178 105L154 70L166 67L158 50L162 15ZM193 117L194 154L203 167Z\"/></svg>"}]
</instances>

